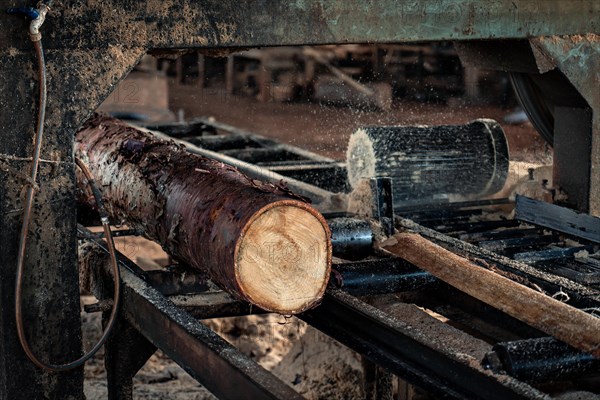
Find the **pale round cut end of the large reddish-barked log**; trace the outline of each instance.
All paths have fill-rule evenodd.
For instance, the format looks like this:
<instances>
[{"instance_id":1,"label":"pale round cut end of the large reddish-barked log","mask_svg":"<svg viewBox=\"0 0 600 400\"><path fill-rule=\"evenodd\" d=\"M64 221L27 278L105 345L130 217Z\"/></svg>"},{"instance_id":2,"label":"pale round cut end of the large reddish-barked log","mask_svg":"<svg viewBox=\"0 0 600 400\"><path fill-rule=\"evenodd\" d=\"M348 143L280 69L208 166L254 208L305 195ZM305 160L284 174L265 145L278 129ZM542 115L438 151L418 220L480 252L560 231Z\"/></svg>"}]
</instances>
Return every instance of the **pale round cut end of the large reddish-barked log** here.
<instances>
[{"instance_id":1,"label":"pale round cut end of the large reddish-barked log","mask_svg":"<svg viewBox=\"0 0 600 400\"><path fill-rule=\"evenodd\" d=\"M283 200L259 210L236 249L241 292L260 308L283 315L314 307L331 272L327 223L309 205Z\"/></svg>"}]
</instances>

